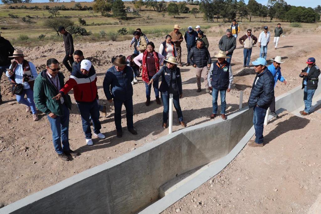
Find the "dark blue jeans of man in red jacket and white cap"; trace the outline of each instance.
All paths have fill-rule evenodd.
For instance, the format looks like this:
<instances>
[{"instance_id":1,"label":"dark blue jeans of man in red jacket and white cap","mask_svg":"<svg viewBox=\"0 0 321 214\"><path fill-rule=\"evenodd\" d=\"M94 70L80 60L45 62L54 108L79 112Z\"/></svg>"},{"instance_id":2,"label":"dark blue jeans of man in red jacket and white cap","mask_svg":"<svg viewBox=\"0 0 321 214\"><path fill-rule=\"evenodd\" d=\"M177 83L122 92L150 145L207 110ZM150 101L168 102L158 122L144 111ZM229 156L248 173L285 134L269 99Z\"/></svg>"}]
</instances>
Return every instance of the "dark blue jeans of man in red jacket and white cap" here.
<instances>
[{"instance_id":1,"label":"dark blue jeans of man in red jacket and white cap","mask_svg":"<svg viewBox=\"0 0 321 214\"><path fill-rule=\"evenodd\" d=\"M82 119L82 130L85 133L86 139L91 139L91 128L90 128L90 115L92 120L92 125L94 128L94 133L99 134L101 129L101 124L99 121L99 106L96 100L92 102L82 102L77 103Z\"/></svg>"}]
</instances>

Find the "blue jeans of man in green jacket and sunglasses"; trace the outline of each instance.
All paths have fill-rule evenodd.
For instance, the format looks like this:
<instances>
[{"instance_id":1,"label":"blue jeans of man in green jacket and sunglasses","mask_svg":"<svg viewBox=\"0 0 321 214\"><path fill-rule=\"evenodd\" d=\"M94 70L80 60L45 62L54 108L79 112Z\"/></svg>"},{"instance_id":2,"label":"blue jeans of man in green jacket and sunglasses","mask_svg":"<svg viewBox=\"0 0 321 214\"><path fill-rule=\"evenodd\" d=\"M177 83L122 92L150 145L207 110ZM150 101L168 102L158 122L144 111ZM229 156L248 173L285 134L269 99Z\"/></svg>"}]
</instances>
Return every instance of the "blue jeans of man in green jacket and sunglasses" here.
<instances>
[{"instance_id":1,"label":"blue jeans of man in green jacket and sunglasses","mask_svg":"<svg viewBox=\"0 0 321 214\"><path fill-rule=\"evenodd\" d=\"M51 118L47 115L51 131L52 131L52 141L54 143L55 150L58 154L62 154L64 151L69 151L69 140L68 140L68 130L69 130L69 109L66 105L62 104L62 116L56 116ZM62 147L61 147L62 143Z\"/></svg>"}]
</instances>

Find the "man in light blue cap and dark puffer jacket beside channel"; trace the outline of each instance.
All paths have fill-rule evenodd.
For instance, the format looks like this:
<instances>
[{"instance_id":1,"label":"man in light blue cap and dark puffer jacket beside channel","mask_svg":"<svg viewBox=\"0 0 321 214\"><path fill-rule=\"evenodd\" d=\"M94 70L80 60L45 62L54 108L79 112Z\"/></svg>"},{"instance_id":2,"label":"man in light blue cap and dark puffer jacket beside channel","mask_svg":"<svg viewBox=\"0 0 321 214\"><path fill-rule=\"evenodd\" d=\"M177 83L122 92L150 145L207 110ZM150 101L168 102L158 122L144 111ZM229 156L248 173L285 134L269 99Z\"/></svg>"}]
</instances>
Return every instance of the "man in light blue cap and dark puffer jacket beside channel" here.
<instances>
[{"instance_id":1,"label":"man in light blue cap and dark puffer jacket beside channel","mask_svg":"<svg viewBox=\"0 0 321 214\"><path fill-rule=\"evenodd\" d=\"M267 69L266 60L262 57L254 62L256 77L254 79L248 107L253 107L253 124L255 129L255 140L250 140L250 147L263 147L263 127L266 110L270 107L274 98L274 79Z\"/></svg>"}]
</instances>

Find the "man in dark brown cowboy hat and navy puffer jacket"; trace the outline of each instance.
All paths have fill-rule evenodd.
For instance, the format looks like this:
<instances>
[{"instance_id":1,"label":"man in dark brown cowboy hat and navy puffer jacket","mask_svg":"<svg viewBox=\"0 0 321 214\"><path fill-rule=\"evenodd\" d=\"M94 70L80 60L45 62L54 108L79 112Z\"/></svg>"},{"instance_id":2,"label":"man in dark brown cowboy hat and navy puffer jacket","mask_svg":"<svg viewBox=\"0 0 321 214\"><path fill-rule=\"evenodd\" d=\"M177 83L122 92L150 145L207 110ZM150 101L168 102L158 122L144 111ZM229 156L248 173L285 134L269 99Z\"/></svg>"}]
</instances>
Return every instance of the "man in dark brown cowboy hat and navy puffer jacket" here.
<instances>
[{"instance_id":1,"label":"man in dark brown cowboy hat and navy puffer jacket","mask_svg":"<svg viewBox=\"0 0 321 214\"><path fill-rule=\"evenodd\" d=\"M114 66L107 70L103 88L108 102L114 101L117 137L123 136L121 126L123 104L126 108L127 129L130 133L136 135L137 132L134 130L133 123L133 85L131 83L134 79L133 69L128 66L129 62L123 55L113 57L111 62Z\"/></svg>"}]
</instances>

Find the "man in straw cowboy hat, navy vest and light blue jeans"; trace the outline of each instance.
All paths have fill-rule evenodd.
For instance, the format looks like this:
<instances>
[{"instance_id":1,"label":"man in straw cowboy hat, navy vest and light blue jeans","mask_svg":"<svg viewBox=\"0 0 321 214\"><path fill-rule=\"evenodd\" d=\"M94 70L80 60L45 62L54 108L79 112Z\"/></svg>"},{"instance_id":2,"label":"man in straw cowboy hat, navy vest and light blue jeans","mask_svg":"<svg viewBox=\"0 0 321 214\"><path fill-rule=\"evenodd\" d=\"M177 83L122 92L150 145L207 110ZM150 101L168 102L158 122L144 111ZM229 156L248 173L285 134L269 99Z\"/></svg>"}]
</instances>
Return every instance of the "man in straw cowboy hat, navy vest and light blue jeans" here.
<instances>
[{"instance_id":1,"label":"man in straw cowboy hat, navy vest and light blue jeans","mask_svg":"<svg viewBox=\"0 0 321 214\"><path fill-rule=\"evenodd\" d=\"M212 63L210 71L208 72L208 89L212 90L213 97L213 112L210 118L213 119L217 115L217 98L220 92L221 96L221 118L226 120L225 109L226 109L226 91L230 92L231 84L233 82L233 73L230 63L226 61L230 57L226 56L226 52L220 51L214 56L217 58Z\"/></svg>"}]
</instances>

